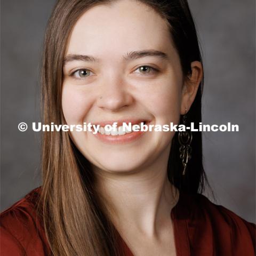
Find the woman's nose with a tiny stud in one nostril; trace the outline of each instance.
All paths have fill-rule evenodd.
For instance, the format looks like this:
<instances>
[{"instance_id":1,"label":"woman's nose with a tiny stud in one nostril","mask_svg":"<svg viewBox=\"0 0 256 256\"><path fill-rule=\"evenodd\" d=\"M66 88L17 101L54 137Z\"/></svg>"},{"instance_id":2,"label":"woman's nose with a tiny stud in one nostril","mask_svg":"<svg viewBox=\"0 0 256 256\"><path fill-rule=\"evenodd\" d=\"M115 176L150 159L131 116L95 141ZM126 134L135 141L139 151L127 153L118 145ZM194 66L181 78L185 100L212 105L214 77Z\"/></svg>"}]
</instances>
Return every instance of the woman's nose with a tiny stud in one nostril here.
<instances>
[{"instance_id":1,"label":"woman's nose with a tiny stud in one nostril","mask_svg":"<svg viewBox=\"0 0 256 256\"><path fill-rule=\"evenodd\" d=\"M122 78L105 77L97 99L98 107L116 111L130 106L132 102L133 97L129 92L129 85Z\"/></svg>"}]
</instances>

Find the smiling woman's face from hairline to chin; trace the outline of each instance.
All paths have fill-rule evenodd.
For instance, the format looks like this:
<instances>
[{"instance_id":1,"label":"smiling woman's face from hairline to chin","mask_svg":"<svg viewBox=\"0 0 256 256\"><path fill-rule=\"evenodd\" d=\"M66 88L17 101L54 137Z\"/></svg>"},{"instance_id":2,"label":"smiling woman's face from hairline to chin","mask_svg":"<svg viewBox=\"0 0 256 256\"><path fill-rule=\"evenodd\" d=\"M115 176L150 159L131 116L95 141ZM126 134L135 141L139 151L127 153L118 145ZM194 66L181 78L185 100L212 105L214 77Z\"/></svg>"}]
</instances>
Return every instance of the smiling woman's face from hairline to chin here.
<instances>
[{"instance_id":1,"label":"smiling woman's face from hairline to chin","mask_svg":"<svg viewBox=\"0 0 256 256\"><path fill-rule=\"evenodd\" d=\"M67 124L179 123L183 75L166 22L137 1L86 11L70 35L63 66ZM119 126L119 123L118 123ZM101 170L134 171L169 155L174 132L71 132Z\"/></svg>"}]
</instances>

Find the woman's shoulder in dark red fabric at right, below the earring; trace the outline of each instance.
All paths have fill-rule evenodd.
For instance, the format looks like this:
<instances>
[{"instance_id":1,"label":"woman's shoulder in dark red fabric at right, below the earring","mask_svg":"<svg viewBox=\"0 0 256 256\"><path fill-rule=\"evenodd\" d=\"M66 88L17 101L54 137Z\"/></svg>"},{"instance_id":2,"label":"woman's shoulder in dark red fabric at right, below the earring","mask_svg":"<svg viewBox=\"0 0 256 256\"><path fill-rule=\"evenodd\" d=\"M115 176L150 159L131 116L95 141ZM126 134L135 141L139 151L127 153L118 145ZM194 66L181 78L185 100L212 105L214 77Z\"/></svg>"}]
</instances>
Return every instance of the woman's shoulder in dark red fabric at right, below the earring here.
<instances>
[{"instance_id":1,"label":"woman's shoulder in dark red fabric at right, below the earring","mask_svg":"<svg viewBox=\"0 0 256 256\"><path fill-rule=\"evenodd\" d=\"M255 255L254 223L212 203L204 195L183 194L182 197L179 210L187 214L184 217L191 243L201 249L208 245L205 250L212 250L213 255Z\"/></svg>"}]
</instances>

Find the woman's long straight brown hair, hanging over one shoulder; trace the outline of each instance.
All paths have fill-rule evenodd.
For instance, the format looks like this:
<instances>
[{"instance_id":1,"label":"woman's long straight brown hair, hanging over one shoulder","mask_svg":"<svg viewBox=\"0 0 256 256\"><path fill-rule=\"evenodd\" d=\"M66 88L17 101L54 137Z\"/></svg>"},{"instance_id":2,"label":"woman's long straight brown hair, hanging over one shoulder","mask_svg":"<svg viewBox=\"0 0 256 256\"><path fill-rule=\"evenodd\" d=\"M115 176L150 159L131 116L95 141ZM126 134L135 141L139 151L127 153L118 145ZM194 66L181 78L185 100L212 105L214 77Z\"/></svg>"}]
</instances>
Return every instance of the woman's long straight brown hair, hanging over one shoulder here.
<instances>
[{"instance_id":1,"label":"woman's long straight brown hair, hanging over one shoulder","mask_svg":"<svg viewBox=\"0 0 256 256\"><path fill-rule=\"evenodd\" d=\"M62 64L71 29L79 17L99 4L115 0L59 0L47 24L42 65L43 123L63 124L61 109ZM185 0L140 0L155 9L170 24L170 35L179 53L183 74L190 72L191 61L202 62L196 29ZM202 83L188 113L188 122L201 122ZM202 135L197 132L193 153L182 177L178 138L174 135L169 157L168 178L188 193L204 187ZM117 233L107 218L93 187L90 163L79 152L67 132L45 132L42 139L43 184L41 213L53 255L122 255Z\"/></svg>"}]
</instances>

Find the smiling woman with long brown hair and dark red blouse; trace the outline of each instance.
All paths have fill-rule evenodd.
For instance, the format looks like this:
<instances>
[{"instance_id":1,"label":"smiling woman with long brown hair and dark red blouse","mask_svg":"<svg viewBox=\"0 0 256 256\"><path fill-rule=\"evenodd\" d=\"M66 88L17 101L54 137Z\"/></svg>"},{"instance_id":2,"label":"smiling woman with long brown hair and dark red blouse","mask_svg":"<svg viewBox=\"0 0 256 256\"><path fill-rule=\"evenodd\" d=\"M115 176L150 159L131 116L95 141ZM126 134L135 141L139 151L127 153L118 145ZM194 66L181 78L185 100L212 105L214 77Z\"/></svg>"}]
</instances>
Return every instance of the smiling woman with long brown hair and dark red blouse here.
<instances>
[{"instance_id":1,"label":"smiling woman with long brown hair and dark red blouse","mask_svg":"<svg viewBox=\"0 0 256 256\"><path fill-rule=\"evenodd\" d=\"M200 132L104 128L197 126L202 79L186 1L58 1L43 122L100 130L43 134L43 185L2 213L2 254L254 255L255 226L201 195Z\"/></svg>"}]
</instances>

